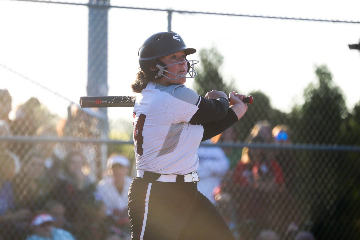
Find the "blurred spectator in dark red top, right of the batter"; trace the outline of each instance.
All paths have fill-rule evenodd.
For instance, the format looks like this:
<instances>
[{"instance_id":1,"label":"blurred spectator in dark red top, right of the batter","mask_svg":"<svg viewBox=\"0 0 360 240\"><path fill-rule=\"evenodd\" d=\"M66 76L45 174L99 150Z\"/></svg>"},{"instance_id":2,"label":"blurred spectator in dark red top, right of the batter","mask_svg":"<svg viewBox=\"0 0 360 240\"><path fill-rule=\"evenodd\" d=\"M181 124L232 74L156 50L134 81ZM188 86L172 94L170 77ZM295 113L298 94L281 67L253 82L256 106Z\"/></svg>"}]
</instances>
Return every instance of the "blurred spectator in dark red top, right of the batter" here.
<instances>
[{"instance_id":1,"label":"blurred spectator in dark red top, right of the batter","mask_svg":"<svg viewBox=\"0 0 360 240\"><path fill-rule=\"evenodd\" d=\"M267 122L258 122L249 135L250 143L271 143L271 128ZM231 184L228 186L232 198L239 206L238 221L241 231L256 236L260 229L286 227L291 223L285 218L285 179L282 168L273 152L263 148L243 148ZM275 210L276 209L276 210ZM249 227L248 225L251 225ZM251 230L253 228L253 230Z\"/></svg>"}]
</instances>

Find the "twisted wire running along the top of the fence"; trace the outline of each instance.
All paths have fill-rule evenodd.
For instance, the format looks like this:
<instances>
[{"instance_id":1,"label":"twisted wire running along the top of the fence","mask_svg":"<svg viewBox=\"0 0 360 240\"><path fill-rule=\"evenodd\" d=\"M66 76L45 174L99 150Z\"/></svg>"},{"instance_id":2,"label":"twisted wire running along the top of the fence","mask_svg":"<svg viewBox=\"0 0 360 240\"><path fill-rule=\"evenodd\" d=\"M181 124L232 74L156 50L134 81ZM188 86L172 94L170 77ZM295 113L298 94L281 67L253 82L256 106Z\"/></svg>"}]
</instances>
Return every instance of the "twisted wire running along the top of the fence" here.
<instances>
[{"instance_id":1,"label":"twisted wire running along the top of the fence","mask_svg":"<svg viewBox=\"0 0 360 240\"><path fill-rule=\"evenodd\" d=\"M332 23L354 23L360 24L360 21L346 21L346 20L334 20L334 19L315 19L315 18L292 18L292 17L276 17L276 16L265 16L265 15L250 15L250 14L235 14L235 13L214 13L214 12L198 12L198 11L186 11L186 10L175 10L175 9L159 9L159 8L138 8L131 6L114 6L114 5L99 5L99 4L88 4L88 3L68 3L59 1L43 1L43 0L8 0L8 1L23 1L33 3L50 3L50 4L64 4L64 5L80 5L89 6L93 8L122 8L122 9L135 9L135 10L151 10L151 11L162 11L162 12L175 12L175 13L189 13L189 14L209 14L209 15L223 15L223 16L235 16L235 17L251 17L251 18L270 18L270 19L283 19L283 20L299 20L299 21L312 21L312 22L332 22Z\"/></svg>"}]
</instances>

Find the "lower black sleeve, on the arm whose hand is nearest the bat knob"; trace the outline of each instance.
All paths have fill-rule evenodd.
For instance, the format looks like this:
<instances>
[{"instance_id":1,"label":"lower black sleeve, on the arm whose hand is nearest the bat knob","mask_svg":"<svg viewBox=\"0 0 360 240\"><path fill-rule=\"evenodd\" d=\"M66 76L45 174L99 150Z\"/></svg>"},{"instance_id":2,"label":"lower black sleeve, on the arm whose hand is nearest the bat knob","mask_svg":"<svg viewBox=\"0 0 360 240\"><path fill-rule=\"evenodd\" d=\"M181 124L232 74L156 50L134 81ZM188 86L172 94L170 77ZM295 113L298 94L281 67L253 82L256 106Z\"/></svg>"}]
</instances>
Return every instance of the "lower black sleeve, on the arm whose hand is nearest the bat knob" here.
<instances>
[{"instance_id":1,"label":"lower black sleeve, on the arm whose hand is nearest the bat knob","mask_svg":"<svg viewBox=\"0 0 360 240\"><path fill-rule=\"evenodd\" d=\"M228 113L226 113L226 116L221 120L204 123L204 135L201 141L211 139L239 120L234 110L231 108L228 109Z\"/></svg>"}]
</instances>

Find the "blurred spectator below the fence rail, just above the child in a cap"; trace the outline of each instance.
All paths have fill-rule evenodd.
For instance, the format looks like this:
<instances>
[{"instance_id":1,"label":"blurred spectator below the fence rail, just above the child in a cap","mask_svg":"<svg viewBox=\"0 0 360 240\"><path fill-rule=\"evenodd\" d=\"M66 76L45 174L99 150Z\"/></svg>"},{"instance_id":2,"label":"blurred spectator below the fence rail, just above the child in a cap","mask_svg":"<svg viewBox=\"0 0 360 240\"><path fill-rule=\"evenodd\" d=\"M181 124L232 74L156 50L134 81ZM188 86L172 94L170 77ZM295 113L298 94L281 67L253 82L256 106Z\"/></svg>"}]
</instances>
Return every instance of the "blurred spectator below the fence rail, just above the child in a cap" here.
<instances>
[{"instance_id":1,"label":"blurred spectator below the fence rail, just above the child in a cap","mask_svg":"<svg viewBox=\"0 0 360 240\"><path fill-rule=\"evenodd\" d=\"M50 190L45 177L44 155L31 149L22 162L20 172L15 176L14 193L17 207L39 210Z\"/></svg>"}]
</instances>

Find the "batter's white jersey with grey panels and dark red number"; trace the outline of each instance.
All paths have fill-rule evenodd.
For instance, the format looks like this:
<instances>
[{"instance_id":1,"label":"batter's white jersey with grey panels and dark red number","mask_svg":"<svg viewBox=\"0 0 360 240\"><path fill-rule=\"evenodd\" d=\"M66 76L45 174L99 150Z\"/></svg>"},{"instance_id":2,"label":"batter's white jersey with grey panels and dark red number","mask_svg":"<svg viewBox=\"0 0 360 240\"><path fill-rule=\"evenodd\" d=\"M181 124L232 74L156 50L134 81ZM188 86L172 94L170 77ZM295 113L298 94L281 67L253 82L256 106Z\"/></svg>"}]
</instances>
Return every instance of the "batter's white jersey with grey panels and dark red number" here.
<instances>
[{"instance_id":1,"label":"batter's white jersey with grey panels and dark red number","mask_svg":"<svg viewBox=\"0 0 360 240\"><path fill-rule=\"evenodd\" d=\"M134 106L136 169L184 175L198 168L204 129L189 121L200 100L185 85L148 83Z\"/></svg>"}]
</instances>

